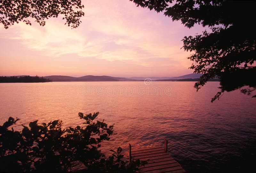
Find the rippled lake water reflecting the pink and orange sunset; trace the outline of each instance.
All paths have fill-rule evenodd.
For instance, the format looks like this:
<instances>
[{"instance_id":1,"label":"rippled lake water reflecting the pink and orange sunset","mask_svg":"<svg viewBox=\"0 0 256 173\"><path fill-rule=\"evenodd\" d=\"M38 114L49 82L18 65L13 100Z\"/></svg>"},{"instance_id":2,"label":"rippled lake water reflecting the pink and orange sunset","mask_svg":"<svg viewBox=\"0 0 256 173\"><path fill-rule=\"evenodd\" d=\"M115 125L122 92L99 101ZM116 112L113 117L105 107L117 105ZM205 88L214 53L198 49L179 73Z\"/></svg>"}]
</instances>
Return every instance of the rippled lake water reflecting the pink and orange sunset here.
<instances>
[{"instance_id":1,"label":"rippled lake water reflecting the pink and orange sunset","mask_svg":"<svg viewBox=\"0 0 256 173\"><path fill-rule=\"evenodd\" d=\"M219 82L198 92L194 83L0 83L0 123L12 116L20 118L18 124L60 119L74 127L83 123L78 112L100 112L98 119L115 124L116 132L103 151L121 146L126 152L128 143L164 145L168 139L169 153L184 169L212 172L248 139L256 145L256 99L233 91L211 103Z\"/></svg>"}]
</instances>

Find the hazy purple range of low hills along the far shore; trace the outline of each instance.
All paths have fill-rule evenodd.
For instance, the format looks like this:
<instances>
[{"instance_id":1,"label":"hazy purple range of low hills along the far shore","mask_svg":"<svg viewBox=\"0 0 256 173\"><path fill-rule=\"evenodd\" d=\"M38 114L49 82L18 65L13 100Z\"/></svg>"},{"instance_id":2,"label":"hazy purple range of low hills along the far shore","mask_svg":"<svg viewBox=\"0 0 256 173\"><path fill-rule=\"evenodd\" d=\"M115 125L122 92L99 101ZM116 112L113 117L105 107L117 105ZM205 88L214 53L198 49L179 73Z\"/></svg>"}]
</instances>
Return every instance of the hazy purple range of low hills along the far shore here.
<instances>
[{"instance_id":1,"label":"hazy purple range of low hills along the far shore","mask_svg":"<svg viewBox=\"0 0 256 173\"><path fill-rule=\"evenodd\" d=\"M87 75L82 77L72 77L72 76L44 76L46 79L52 80L52 82L89 82L89 81L144 81L146 78L150 78L152 81L177 81L177 79L188 79L188 78L199 78L202 74L188 74L178 77L112 77L112 76L93 76Z\"/></svg>"}]
</instances>

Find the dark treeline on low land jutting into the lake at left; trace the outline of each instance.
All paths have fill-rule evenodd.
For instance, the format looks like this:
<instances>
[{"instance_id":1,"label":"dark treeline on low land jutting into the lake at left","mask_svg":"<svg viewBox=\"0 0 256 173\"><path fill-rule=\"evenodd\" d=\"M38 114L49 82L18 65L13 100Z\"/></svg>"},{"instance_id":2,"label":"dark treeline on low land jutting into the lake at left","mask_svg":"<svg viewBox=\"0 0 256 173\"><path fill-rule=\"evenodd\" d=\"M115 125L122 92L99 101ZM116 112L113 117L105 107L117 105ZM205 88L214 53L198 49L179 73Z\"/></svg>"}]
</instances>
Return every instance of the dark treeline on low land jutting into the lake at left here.
<instances>
[{"instance_id":1,"label":"dark treeline on low land jutting into the lake at left","mask_svg":"<svg viewBox=\"0 0 256 173\"><path fill-rule=\"evenodd\" d=\"M43 76L0 76L0 83L37 83L37 82L52 82Z\"/></svg>"}]
</instances>

